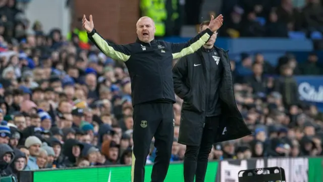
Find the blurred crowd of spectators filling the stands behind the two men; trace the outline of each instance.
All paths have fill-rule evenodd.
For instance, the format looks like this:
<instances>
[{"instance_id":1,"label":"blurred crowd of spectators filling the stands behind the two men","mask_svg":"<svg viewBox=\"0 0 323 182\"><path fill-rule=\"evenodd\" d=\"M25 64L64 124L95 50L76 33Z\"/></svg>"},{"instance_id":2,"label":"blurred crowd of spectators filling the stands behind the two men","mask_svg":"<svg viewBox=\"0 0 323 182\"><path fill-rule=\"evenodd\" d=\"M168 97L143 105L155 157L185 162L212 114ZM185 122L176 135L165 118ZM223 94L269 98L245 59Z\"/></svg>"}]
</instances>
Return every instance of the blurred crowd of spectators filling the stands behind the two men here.
<instances>
[{"instance_id":1,"label":"blurred crowd of spectators filling the stands behind the two men","mask_svg":"<svg viewBox=\"0 0 323 182\"><path fill-rule=\"evenodd\" d=\"M185 15L194 2L201 11ZM178 29L170 35L180 34L182 25L198 24L200 14L209 12L207 2L186 1L184 6L178 1L185 8L177 13L182 17L184 12L184 18L173 21ZM142 14L149 15L144 3ZM218 37L288 37L296 31L318 37L323 30L317 0L221 3L213 10L226 17ZM12 162L5 172L131 164L133 107L125 65L100 53L81 24L68 35L55 27L45 32L42 22L30 22L16 4L0 0L0 160ZM209 159L323 155L323 115L300 100L294 78L322 75L322 61L316 52L305 60L286 53L277 64L261 52L232 58L237 107L254 134L214 144ZM181 103L178 98L174 104L171 161L181 161L185 153L177 143ZM152 141L147 164L154 156Z\"/></svg>"}]
</instances>

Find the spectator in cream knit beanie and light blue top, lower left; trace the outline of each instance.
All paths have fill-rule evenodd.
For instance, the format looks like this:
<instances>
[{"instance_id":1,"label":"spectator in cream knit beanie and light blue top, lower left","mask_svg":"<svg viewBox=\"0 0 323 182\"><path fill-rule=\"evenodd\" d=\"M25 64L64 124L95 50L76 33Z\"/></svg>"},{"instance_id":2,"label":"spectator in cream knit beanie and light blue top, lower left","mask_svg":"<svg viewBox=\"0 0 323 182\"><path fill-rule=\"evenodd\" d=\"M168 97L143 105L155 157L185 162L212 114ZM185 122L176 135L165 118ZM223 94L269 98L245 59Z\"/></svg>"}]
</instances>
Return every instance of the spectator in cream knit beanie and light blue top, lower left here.
<instances>
[{"instance_id":1,"label":"spectator in cream knit beanie and light blue top, lower left","mask_svg":"<svg viewBox=\"0 0 323 182\"><path fill-rule=\"evenodd\" d=\"M39 169L36 160L39 155L39 149L41 141L37 136L29 136L25 141L25 147L29 150L30 156L27 162L26 170L37 170Z\"/></svg>"}]
</instances>

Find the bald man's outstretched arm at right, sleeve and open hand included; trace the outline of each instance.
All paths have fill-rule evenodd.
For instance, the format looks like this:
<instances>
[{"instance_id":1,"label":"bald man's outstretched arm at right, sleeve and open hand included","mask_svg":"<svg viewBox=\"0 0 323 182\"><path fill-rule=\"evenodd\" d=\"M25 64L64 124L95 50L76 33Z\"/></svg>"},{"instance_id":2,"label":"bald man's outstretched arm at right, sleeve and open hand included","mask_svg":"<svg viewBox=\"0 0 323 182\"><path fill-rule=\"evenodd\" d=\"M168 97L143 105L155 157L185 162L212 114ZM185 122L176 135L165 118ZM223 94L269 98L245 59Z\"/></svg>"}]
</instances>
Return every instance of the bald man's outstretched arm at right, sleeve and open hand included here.
<instances>
[{"instance_id":1,"label":"bald man's outstretched arm at right, sleeve and open hand included","mask_svg":"<svg viewBox=\"0 0 323 182\"><path fill-rule=\"evenodd\" d=\"M184 43L172 43L172 55L173 59L178 59L183 56L189 55L197 51L204 45L213 32L217 31L223 24L223 16L219 15L216 19L211 17L208 28L200 32L194 38Z\"/></svg>"}]
</instances>

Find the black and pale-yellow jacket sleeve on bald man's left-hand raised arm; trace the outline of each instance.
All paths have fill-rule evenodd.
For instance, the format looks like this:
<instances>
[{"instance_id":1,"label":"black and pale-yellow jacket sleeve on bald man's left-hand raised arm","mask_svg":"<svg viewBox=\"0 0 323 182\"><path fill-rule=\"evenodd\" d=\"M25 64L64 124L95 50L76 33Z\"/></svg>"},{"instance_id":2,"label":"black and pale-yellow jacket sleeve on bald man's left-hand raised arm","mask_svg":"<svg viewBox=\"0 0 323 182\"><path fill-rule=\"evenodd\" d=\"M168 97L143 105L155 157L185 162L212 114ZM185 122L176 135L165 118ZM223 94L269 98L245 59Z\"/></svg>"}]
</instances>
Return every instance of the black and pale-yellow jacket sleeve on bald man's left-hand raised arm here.
<instances>
[{"instance_id":1,"label":"black and pale-yellow jacket sleeve on bald man's left-hand raised arm","mask_svg":"<svg viewBox=\"0 0 323 182\"><path fill-rule=\"evenodd\" d=\"M88 33L89 39L96 45L96 47L106 56L118 61L128 61L131 50L128 45L117 45L109 41L105 41L95 29Z\"/></svg>"}]
</instances>

